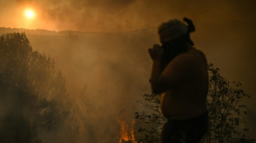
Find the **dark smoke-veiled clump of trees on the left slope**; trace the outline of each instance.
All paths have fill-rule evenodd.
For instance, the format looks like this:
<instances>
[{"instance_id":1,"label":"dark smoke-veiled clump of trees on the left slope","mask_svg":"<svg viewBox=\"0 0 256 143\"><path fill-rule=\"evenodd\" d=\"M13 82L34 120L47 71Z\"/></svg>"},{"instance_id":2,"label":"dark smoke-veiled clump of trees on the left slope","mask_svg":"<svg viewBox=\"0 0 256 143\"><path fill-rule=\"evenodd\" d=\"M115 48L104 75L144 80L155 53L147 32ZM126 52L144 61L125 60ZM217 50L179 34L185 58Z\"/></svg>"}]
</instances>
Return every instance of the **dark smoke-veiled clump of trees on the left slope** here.
<instances>
[{"instance_id":1,"label":"dark smoke-veiled clump of trees on the left slope","mask_svg":"<svg viewBox=\"0 0 256 143\"><path fill-rule=\"evenodd\" d=\"M25 33L0 36L0 141L40 143L40 132L75 132L64 76L55 62L33 51Z\"/></svg>"}]
</instances>

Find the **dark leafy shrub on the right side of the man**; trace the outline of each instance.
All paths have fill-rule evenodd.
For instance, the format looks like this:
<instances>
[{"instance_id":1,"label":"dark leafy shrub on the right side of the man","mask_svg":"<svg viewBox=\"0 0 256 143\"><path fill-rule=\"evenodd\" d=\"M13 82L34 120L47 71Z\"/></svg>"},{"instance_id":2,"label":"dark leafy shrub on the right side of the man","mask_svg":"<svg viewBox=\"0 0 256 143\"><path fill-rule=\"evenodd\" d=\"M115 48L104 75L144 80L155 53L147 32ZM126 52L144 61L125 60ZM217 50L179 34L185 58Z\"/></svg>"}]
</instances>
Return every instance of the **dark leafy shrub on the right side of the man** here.
<instances>
[{"instance_id":1,"label":"dark leafy shrub on the right side of the man","mask_svg":"<svg viewBox=\"0 0 256 143\"><path fill-rule=\"evenodd\" d=\"M252 141L246 139L245 133L249 129L240 122L240 118L247 113L247 106L240 101L249 98L249 95L239 89L239 82L230 82L221 76L220 69L213 64L209 64L208 71L207 108L210 129L202 142Z\"/></svg>"}]
</instances>

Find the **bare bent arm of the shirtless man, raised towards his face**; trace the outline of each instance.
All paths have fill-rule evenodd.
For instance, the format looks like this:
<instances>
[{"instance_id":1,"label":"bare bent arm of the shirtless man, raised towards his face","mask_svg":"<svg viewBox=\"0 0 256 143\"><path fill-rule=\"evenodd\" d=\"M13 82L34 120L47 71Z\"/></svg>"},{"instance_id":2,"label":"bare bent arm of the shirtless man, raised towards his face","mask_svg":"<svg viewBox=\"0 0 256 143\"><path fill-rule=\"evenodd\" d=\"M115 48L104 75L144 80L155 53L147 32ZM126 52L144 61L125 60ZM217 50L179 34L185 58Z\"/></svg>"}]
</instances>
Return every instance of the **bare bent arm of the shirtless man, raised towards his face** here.
<instances>
[{"instance_id":1,"label":"bare bent arm of the shirtless man, raised towards his face","mask_svg":"<svg viewBox=\"0 0 256 143\"><path fill-rule=\"evenodd\" d=\"M163 93L177 88L194 71L195 60L189 53L183 53L169 62L164 71L161 71L161 61L154 60L151 72L151 89L153 93Z\"/></svg>"}]
</instances>

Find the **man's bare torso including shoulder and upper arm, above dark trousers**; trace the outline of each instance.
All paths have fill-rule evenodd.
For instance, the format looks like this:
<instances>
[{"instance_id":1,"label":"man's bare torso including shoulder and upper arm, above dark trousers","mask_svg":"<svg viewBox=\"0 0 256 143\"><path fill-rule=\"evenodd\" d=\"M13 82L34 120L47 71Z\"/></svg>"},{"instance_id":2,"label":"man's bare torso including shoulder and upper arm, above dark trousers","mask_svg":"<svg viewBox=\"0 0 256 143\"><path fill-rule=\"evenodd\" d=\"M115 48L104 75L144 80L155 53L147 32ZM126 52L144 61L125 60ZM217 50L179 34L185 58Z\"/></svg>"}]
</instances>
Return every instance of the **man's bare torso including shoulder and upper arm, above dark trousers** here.
<instances>
[{"instance_id":1,"label":"man's bare torso including shoulder and upper arm, above dark trousers","mask_svg":"<svg viewBox=\"0 0 256 143\"><path fill-rule=\"evenodd\" d=\"M206 58L192 48L168 63L163 73L168 90L162 95L161 108L165 117L195 118L206 112L208 74Z\"/></svg>"}]
</instances>

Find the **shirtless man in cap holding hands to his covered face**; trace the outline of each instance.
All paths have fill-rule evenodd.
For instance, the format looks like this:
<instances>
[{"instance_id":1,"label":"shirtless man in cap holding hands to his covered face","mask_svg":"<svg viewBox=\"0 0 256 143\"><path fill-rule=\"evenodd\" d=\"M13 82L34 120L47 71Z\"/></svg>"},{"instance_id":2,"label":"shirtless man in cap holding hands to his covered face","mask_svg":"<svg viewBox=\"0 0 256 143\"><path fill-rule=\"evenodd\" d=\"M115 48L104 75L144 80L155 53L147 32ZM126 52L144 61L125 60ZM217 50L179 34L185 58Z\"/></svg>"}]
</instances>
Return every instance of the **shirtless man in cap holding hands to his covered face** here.
<instances>
[{"instance_id":1,"label":"shirtless man in cap holding hands to his covered face","mask_svg":"<svg viewBox=\"0 0 256 143\"><path fill-rule=\"evenodd\" d=\"M189 37L192 21L176 19L159 26L162 46L149 48L153 60L151 89L162 94L161 109L168 119L162 131L162 143L196 143L208 125L206 95L207 62L204 53L193 47Z\"/></svg>"}]
</instances>

